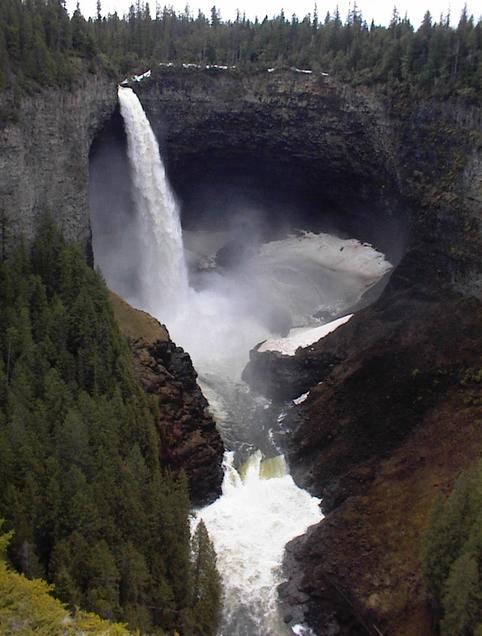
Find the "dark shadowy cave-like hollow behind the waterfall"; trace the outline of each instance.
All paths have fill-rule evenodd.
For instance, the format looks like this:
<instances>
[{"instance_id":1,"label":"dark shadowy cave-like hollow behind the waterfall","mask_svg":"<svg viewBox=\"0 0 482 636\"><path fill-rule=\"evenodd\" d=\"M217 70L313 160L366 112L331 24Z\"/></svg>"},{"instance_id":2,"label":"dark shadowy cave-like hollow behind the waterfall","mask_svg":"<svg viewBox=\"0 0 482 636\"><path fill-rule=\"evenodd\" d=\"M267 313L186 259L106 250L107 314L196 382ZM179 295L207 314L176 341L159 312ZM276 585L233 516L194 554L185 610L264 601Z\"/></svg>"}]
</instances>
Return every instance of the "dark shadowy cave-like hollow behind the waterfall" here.
<instances>
[{"instance_id":1,"label":"dark shadowy cave-like hollow behind the waterfall","mask_svg":"<svg viewBox=\"0 0 482 636\"><path fill-rule=\"evenodd\" d=\"M406 206L395 178L380 165L376 147L370 155L356 122L355 132L346 123L340 126L334 151L325 147L317 153L308 138L305 152L305 130L279 128L259 112L251 122L249 113L241 121L229 113L222 118L201 113L182 126L173 119L171 129L169 113L159 119L150 112L149 98L144 101L185 229L255 225L264 240L293 228L326 231L370 242L394 264L401 258ZM92 144L89 197L96 263L101 269L109 263L114 289L132 288L142 248L130 231L134 203L119 107ZM246 227L242 230L249 236Z\"/></svg>"}]
</instances>

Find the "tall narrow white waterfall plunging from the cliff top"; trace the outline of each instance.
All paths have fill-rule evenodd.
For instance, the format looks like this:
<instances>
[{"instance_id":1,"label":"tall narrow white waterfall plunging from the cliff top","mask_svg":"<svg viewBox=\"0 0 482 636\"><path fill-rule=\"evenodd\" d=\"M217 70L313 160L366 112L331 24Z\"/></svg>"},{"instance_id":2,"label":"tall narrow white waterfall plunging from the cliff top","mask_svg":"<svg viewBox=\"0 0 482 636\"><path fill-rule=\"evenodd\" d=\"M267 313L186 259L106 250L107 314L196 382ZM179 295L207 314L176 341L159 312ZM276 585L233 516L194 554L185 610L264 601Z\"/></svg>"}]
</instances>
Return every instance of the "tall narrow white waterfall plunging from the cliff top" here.
<instances>
[{"instance_id":1,"label":"tall narrow white waterfall plunging from the cliff top","mask_svg":"<svg viewBox=\"0 0 482 636\"><path fill-rule=\"evenodd\" d=\"M139 283L133 304L162 320L175 316L188 295L179 208L159 155L159 145L142 105L130 88L119 86L127 134L140 242Z\"/></svg>"}]
</instances>

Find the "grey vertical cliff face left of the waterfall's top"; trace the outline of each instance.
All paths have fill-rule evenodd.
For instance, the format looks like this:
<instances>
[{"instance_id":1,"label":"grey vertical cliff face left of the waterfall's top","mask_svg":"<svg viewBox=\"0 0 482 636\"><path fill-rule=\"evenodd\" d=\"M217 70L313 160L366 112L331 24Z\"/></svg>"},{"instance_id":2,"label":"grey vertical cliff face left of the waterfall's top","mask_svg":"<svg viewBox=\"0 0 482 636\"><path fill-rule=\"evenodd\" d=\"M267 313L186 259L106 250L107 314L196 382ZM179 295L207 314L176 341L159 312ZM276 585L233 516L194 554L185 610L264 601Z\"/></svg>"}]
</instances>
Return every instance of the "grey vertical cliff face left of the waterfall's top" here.
<instances>
[{"instance_id":1,"label":"grey vertical cliff face left of the waterfall's top","mask_svg":"<svg viewBox=\"0 0 482 636\"><path fill-rule=\"evenodd\" d=\"M0 212L11 238L29 240L37 217L50 212L68 239L90 249L89 151L116 103L115 82L92 74L20 103L0 93Z\"/></svg>"}]
</instances>

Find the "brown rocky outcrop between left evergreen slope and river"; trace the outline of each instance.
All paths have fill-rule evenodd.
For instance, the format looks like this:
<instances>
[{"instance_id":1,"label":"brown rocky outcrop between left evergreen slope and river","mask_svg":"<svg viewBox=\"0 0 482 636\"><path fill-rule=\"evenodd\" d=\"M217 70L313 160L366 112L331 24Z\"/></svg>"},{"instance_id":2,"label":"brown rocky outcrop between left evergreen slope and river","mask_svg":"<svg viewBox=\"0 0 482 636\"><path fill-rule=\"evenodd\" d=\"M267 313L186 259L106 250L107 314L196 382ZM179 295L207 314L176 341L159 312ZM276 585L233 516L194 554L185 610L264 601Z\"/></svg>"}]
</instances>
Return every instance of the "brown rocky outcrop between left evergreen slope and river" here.
<instances>
[{"instance_id":1,"label":"brown rocky outcrop between left evergreen slope and river","mask_svg":"<svg viewBox=\"0 0 482 636\"><path fill-rule=\"evenodd\" d=\"M135 375L155 399L161 460L185 471L193 505L208 503L221 493L224 446L191 359L157 320L113 293L111 301L133 352Z\"/></svg>"}]
</instances>

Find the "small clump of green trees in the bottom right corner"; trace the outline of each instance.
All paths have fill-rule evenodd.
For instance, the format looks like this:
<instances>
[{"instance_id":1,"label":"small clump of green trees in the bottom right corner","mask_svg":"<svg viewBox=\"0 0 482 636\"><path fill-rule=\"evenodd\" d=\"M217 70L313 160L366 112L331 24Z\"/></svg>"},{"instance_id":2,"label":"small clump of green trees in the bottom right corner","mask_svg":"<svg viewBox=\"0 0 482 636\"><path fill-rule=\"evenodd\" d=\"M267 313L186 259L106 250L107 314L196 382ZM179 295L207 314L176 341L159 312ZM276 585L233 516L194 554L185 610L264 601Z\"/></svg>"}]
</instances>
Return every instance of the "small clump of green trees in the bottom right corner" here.
<instances>
[{"instance_id":1,"label":"small clump of green trees in the bottom right corner","mask_svg":"<svg viewBox=\"0 0 482 636\"><path fill-rule=\"evenodd\" d=\"M442 636L482 633L482 460L436 501L422 566L441 608Z\"/></svg>"}]
</instances>

